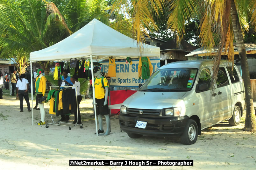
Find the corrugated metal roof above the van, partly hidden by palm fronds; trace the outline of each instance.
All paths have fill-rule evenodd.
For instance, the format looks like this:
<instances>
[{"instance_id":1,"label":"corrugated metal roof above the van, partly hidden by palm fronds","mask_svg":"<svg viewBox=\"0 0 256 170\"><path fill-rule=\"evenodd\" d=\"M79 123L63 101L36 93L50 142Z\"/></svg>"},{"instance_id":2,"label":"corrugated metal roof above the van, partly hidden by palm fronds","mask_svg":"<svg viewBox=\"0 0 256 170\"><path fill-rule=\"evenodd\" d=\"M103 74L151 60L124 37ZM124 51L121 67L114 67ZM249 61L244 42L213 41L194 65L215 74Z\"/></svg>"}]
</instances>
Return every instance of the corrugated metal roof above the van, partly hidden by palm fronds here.
<instances>
[{"instance_id":1,"label":"corrugated metal roof above the van, partly hidden by palm fronds","mask_svg":"<svg viewBox=\"0 0 256 170\"><path fill-rule=\"evenodd\" d=\"M217 51L217 47L212 50L204 50L204 47L200 47L200 48L197 48L196 50L192 51L191 53L188 53L185 56L195 56L195 55L200 55L200 54L201 54L200 56L214 55L214 53L216 51ZM245 51L248 54L256 53L256 44L245 44ZM224 48L223 48L222 52L224 53ZM238 48L236 45L234 46L234 52L235 52L235 54L238 54ZM222 54L222 55L226 55L226 54Z\"/></svg>"}]
</instances>

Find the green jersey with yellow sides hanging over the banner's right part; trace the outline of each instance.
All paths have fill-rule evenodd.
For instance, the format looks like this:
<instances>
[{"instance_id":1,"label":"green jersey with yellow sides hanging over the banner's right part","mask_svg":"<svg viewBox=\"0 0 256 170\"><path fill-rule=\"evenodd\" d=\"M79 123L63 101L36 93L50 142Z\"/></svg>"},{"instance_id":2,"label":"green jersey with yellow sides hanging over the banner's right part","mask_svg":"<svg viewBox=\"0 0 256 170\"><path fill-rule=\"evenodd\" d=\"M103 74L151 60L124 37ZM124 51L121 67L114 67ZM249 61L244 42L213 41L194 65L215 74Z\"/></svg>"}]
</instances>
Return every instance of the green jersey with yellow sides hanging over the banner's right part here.
<instances>
[{"instance_id":1,"label":"green jersey with yellow sides hanging over the banner's right part","mask_svg":"<svg viewBox=\"0 0 256 170\"><path fill-rule=\"evenodd\" d=\"M139 79L148 79L149 76L152 74L153 66L148 57L140 57L139 58L139 66L138 66L138 73ZM141 78L140 78L141 77Z\"/></svg>"}]
</instances>

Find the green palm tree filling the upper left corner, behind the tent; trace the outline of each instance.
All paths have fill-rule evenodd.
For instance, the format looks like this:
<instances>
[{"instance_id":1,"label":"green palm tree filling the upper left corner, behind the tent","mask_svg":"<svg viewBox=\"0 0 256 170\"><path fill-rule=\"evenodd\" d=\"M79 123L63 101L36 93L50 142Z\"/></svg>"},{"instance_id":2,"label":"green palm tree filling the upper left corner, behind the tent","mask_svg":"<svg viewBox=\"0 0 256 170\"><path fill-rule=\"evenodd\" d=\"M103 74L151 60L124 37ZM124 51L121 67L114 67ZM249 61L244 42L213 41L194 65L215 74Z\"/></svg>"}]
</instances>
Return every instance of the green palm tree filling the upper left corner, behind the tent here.
<instances>
[{"instance_id":1,"label":"green palm tree filling the upper left corner, behind the tent","mask_svg":"<svg viewBox=\"0 0 256 170\"><path fill-rule=\"evenodd\" d=\"M70 35L65 21L52 16L42 1L0 0L1 57L13 57L21 72L30 52L55 44L63 34Z\"/></svg>"}]
</instances>

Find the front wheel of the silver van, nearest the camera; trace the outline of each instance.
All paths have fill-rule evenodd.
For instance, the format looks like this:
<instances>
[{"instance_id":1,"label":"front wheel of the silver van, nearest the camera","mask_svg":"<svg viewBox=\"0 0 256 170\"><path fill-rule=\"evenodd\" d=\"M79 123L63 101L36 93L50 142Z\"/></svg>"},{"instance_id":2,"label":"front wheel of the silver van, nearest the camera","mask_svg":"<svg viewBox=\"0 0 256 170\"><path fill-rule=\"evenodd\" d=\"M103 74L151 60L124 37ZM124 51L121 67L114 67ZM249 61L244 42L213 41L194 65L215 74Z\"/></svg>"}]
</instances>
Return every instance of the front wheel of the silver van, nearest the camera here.
<instances>
[{"instance_id":1,"label":"front wheel of the silver van, nearest the camera","mask_svg":"<svg viewBox=\"0 0 256 170\"><path fill-rule=\"evenodd\" d=\"M181 143L184 145L192 145L196 143L198 136L198 127L195 120L188 119L184 132L181 135Z\"/></svg>"}]
</instances>

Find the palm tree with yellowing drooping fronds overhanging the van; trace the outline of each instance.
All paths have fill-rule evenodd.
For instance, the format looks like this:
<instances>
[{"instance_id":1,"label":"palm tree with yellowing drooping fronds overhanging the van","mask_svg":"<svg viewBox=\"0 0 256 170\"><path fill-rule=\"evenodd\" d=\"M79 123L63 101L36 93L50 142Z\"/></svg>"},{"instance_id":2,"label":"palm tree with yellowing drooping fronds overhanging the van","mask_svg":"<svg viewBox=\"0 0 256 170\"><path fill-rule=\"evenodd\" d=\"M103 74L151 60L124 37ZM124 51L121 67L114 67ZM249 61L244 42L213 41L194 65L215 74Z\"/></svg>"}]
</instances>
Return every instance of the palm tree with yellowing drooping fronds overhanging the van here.
<instances>
[{"instance_id":1,"label":"palm tree with yellowing drooping fronds overhanging the van","mask_svg":"<svg viewBox=\"0 0 256 170\"><path fill-rule=\"evenodd\" d=\"M185 24L191 18L200 20L201 45L210 50L217 45L218 50L214 56L212 88L215 87L217 71L220 63L222 49L228 50L228 60L234 63L233 41L238 46L241 59L242 75L245 84L246 118L245 131L256 131L255 115L253 113L252 92L250 76L244 45L244 32L248 31L249 23L256 28L256 3L250 0L115 0L113 9L123 10L133 20L133 34L137 42L145 42L147 27L157 30L153 14L162 12L162 7L169 6L167 28L170 28L177 39L177 45L184 37ZM112 9L112 10L113 10Z\"/></svg>"}]
</instances>

